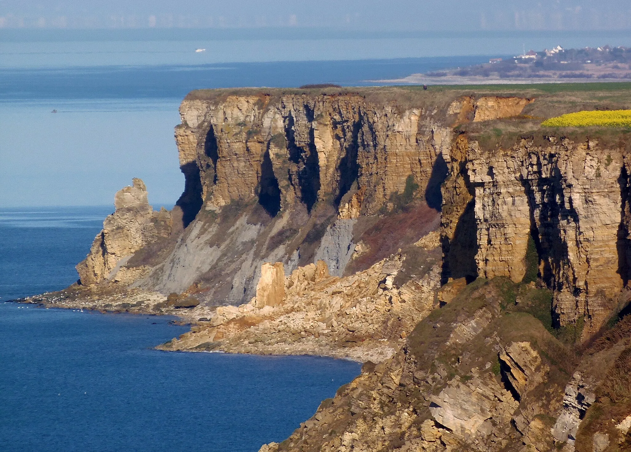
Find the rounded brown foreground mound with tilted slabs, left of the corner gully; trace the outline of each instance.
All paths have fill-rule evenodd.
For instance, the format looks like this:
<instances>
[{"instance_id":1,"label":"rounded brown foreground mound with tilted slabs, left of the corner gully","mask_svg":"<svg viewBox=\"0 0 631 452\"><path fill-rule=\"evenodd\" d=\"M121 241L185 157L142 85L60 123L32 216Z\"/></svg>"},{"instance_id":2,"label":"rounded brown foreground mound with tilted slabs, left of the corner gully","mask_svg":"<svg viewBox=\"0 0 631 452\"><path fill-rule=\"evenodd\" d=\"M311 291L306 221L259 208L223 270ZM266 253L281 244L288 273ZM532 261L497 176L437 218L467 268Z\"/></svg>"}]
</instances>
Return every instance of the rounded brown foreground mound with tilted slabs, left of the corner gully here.
<instances>
[{"instance_id":1,"label":"rounded brown foreground mound with tilted slabs, left of the corner gully","mask_svg":"<svg viewBox=\"0 0 631 452\"><path fill-rule=\"evenodd\" d=\"M539 347L558 345L540 323L502 315L501 299L493 282L466 289L391 359L365 364L286 441L261 450L550 451L548 419L562 405L564 381L551 378ZM464 337L463 327L466 339L445 341ZM498 356L520 368L521 393L493 370Z\"/></svg>"}]
</instances>

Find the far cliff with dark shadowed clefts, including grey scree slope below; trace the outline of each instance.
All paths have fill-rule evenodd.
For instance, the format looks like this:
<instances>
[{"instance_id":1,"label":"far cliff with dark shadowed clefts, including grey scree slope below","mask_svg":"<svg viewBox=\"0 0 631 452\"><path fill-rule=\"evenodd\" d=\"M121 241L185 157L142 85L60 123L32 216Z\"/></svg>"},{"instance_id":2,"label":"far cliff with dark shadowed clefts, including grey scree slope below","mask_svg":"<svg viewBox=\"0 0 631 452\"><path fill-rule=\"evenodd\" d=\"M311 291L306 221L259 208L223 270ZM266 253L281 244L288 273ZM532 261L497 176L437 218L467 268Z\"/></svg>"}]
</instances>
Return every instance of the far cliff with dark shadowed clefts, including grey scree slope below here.
<instances>
[{"instance_id":1,"label":"far cliff with dark shadowed clefts, including grey scree slope below","mask_svg":"<svg viewBox=\"0 0 631 452\"><path fill-rule=\"evenodd\" d=\"M414 205L432 224L452 96L417 97L399 105L398 93L191 93L175 128L184 230L132 285L168 294L199 283L196 293L208 302L245 303L265 262L281 262L289 274L324 260L331 275L343 275L378 213ZM396 252L397 243L373 250L379 254L355 270ZM124 266L138 270L136 260Z\"/></svg>"}]
</instances>

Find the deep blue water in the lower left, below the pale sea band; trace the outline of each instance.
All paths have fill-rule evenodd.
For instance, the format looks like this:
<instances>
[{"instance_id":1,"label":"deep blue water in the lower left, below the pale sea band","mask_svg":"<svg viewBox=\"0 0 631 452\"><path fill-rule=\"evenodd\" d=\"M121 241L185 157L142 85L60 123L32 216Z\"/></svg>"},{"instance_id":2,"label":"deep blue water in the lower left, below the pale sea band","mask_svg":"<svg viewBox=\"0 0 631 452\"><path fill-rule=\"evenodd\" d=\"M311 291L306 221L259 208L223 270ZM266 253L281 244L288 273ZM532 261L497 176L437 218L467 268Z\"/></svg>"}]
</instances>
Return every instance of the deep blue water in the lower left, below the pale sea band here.
<instances>
[{"instance_id":1,"label":"deep blue water in the lower left, below the pale sea band","mask_svg":"<svg viewBox=\"0 0 631 452\"><path fill-rule=\"evenodd\" d=\"M155 351L188 328L5 301L73 282L111 211L0 209L0 451L257 451L358 374L319 357Z\"/></svg>"}]
</instances>

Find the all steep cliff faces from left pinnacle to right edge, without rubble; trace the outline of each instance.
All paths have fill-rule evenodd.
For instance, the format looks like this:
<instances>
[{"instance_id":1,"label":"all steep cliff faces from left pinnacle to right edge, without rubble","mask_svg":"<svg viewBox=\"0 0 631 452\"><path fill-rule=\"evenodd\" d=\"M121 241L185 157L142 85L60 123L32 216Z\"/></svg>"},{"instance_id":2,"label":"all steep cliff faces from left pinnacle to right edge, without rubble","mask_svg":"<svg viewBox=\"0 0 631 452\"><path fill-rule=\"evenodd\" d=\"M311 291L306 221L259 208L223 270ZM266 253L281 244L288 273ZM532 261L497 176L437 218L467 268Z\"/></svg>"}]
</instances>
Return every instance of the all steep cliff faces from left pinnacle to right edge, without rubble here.
<instances>
[{"instance_id":1,"label":"all steep cliff faces from left pinnacle to right edge, without rubble","mask_svg":"<svg viewBox=\"0 0 631 452\"><path fill-rule=\"evenodd\" d=\"M428 232L406 223L410 206L424 202L442 208L443 282L522 281L530 241L557 324L584 319L586 337L598 330L631 263L623 145L545 134L488 145L486 124L519 118L537 105L529 97L321 91L187 96L175 129L182 221L153 212L141 182L124 188L78 266L82 284L246 303L266 262L281 262L286 274L318 260L334 276L367 269L406 245L387 248L395 240L378 235L418 228L415 241ZM377 220L388 212L401 212L400 221ZM425 212L428 224L439 216Z\"/></svg>"}]
</instances>

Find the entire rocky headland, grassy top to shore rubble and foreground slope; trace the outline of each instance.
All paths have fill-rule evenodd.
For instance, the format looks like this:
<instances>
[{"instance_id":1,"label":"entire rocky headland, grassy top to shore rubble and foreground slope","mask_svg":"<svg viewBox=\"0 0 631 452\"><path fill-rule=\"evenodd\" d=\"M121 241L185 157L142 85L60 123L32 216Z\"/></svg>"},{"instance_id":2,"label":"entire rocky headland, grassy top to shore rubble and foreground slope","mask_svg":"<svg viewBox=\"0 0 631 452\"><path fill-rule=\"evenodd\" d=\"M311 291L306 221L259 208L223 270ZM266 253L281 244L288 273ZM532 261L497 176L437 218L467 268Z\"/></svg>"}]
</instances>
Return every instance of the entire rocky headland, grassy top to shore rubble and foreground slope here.
<instances>
[{"instance_id":1,"label":"entire rocky headland, grassy top to shore rubble and foreground slope","mask_svg":"<svg viewBox=\"0 0 631 452\"><path fill-rule=\"evenodd\" d=\"M615 84L193 91L177 206L134 180L78 284L31 301L195 324L163 350L365 362L262 451L623 450L631 140L541 121L630 102Z\"/></svg>"}]
</instances>

